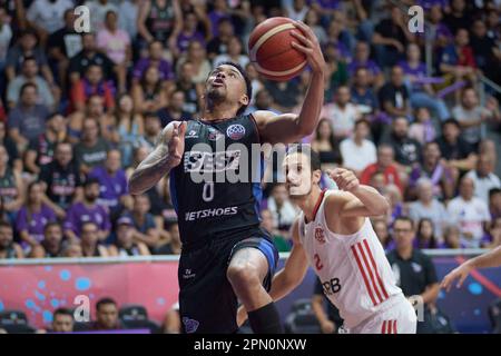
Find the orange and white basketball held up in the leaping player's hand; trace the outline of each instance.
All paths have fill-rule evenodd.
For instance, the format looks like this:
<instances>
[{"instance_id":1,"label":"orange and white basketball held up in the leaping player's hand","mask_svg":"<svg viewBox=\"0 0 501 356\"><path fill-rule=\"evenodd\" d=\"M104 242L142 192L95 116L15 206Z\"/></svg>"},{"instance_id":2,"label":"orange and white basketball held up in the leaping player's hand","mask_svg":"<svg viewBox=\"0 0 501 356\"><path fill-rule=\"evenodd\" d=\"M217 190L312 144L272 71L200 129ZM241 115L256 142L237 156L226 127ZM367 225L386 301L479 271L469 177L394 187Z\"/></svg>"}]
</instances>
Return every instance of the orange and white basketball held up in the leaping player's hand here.
<instances>
[{"instance_id":1,"label":"orange and white basketball held up in the leaping player's hand","mask_svg":"<svg viewBox=\"0 0 501 356\"><path fill-rule=\"evenodd\" d=\"M306 56L292 42L301 42L291 33L301 29L287 18L271 18L250 33L248 53L256 70L271 80L285 81L297 76L306 66Z\"/></svg>"}]
</instances>

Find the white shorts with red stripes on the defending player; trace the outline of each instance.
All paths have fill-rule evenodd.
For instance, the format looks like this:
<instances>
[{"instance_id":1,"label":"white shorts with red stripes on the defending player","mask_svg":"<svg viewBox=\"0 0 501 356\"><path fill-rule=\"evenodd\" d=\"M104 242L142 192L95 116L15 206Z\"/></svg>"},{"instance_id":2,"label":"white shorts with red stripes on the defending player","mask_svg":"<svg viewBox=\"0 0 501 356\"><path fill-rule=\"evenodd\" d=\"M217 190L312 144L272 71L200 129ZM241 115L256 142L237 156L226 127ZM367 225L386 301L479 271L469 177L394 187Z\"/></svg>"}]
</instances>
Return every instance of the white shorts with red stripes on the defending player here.
<instances>
[{"instance_id":1,"label":"white shorts with red stripes on the defending player","mask_svg":"<svg viewBox=\"0 0 501 356\"><path fill-rule=\"evenodd\" d=\"M411 303L402 295L387 300L390 305L376 312L346 334L415 334L418 316Z\"/></svg>"}]
</instances>

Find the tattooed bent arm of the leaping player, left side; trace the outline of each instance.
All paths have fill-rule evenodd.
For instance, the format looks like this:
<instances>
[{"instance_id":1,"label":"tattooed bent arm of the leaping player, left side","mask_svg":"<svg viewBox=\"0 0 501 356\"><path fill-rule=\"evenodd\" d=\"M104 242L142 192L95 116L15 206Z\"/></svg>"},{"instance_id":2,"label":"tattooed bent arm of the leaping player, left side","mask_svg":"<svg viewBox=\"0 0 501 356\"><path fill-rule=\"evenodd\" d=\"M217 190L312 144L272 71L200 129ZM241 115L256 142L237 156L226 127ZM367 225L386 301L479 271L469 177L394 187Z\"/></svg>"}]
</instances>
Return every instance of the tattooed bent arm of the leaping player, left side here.
<instances>
[{"instance_id":1,"label":"tattooed bent arm of the leaping player, left side","mask_svg":"<svg viewBox=\"0 0 501 356\"><path fill-rule=\"evenodd\" d=\"M129 178L129 192L143 194L179 165L185 150L186 123L173 121L160 134L155 149L137 166Z\"/></svg>"}]
</instances>

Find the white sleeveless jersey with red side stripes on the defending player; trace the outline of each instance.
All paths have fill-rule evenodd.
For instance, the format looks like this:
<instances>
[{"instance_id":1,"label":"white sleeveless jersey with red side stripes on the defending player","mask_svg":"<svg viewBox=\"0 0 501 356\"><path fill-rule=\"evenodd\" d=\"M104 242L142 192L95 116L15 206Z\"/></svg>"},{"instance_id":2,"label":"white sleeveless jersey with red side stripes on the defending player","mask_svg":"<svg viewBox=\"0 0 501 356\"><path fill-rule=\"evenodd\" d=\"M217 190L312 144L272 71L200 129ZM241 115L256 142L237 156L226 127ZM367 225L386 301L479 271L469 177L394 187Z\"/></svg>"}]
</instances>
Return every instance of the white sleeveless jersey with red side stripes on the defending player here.
<instances>
[{"instance_id":1,"label":"white sleeveless jersey with red side stripes on the defending player","mask_svg":"<svg viewBox=\"0 0 501 356\"><path fill-rule=\"evenodd\" d=\"M328 229L325 200L338 192L322 192L313 221L306 224L301 212L299 239L324 294L340 309L345 326L352 328L390 307L392 303L385 301L391 297L403 297L403 294L369 218L353 235L338 235Z\"/></svg>"}]
</instances>

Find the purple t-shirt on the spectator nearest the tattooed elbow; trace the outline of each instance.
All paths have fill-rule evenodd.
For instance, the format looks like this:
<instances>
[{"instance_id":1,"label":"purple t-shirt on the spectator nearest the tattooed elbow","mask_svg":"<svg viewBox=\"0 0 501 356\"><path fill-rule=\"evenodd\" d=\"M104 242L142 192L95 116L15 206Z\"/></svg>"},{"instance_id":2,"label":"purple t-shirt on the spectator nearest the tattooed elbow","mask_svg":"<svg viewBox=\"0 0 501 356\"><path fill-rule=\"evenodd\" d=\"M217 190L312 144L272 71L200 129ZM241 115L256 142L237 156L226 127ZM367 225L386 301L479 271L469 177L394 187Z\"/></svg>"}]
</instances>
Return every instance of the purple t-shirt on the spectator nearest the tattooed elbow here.
<instances>
[{"instance_id":1,"label":"purple t-shirt on the spectator nearest the tattooed elbow","mask_svg":"<svg viewBox=\"0 0 501 356\"><path fill-rule=\"evenodd\" d=\"M99 180L99 205L115 208L118 206L120 197L128 192L127 178L122 169L119 169L114 176L110 176L105 167L97 166L90 171L89 177Z\"/></svg>"}]
</instances>

